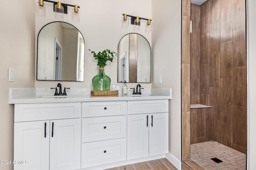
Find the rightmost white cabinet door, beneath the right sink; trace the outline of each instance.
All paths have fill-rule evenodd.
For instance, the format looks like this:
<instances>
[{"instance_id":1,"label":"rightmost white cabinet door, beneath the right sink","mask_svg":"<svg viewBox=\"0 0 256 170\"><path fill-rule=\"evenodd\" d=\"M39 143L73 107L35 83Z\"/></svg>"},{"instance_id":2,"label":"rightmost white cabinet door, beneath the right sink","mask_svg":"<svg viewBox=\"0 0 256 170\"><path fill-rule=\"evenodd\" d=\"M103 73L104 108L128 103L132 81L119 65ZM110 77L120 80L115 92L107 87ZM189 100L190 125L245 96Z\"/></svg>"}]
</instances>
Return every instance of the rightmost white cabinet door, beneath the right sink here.
<instances>
[{"instance_id":1,"label":"rightmost white cabinet door, beneath the right sink","mask_svg":"<svg viewBox=\"0 0 256 170\"><path fill-rule=\"evenodd\" d=\"M149 115L149 156L168 153L168 113Z\"/></svg>"}]
</instances>

